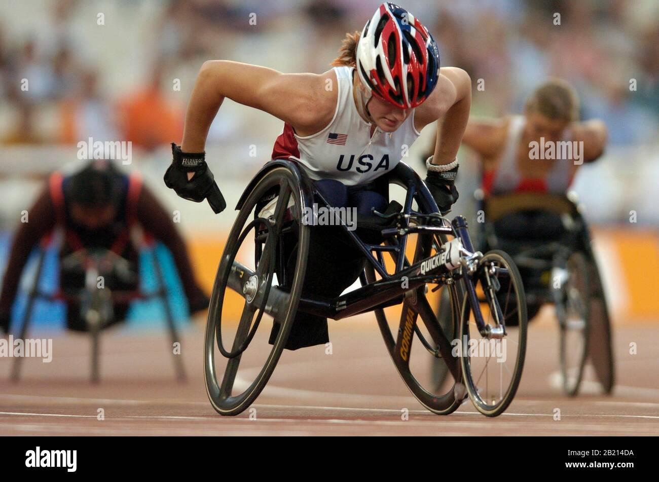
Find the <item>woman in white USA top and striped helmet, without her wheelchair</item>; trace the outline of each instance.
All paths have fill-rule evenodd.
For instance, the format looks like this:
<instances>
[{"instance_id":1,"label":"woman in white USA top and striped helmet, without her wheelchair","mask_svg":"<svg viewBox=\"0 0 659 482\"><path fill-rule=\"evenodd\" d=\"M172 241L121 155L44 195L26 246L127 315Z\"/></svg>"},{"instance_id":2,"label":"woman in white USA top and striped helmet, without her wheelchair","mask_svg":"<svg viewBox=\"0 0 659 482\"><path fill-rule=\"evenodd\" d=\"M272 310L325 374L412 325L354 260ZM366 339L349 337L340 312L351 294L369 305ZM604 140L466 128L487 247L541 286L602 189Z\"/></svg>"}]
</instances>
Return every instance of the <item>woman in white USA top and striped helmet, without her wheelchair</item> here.
<instances>
[{"instance_id":1,"label":"woman in white USA top and striped helmet, without her wheelchair","mask_svg":"<svg viewBox=\"0 0 659 482\"><path fill-rule=\"evenodd\" d=\"M183 198L207 199L216 212L225 207L204 146L217 109L228 97L281 119L284 128L272 157L297 159L333 205L358 212L386 207L386 194L376 180L397 165L424 126L437 122L425 182L440 211L447 211L458 197L456 155L471 106L467 72L440 68L430 32L393 3L380 5L361 33L347 34L332 65L323 74L283 74L232 61L204 63L188 104L183 142L173 145L165 184ZM345 250L337 253L337 243L327 239L312 234L305 285L337 296L354 281L362 259ZM314 273L322 277L314 279ZM316 321L308 321L305 333L316 330L318 336L308 335L313 339L301 340L301 346L326 338L326 321ZM291 346L295 331L294 325Z\"/></svg>"}]
</instances>

